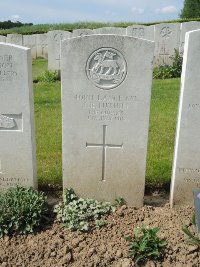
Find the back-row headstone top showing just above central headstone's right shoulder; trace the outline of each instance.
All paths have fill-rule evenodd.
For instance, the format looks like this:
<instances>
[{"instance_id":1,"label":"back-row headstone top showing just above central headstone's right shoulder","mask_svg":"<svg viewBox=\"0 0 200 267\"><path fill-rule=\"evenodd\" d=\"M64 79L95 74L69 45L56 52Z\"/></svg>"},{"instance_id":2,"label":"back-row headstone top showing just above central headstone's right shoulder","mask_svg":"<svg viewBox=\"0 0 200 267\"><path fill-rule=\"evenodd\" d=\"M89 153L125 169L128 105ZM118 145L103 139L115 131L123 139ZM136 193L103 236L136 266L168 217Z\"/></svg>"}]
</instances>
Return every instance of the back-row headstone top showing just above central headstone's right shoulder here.
<instances>
[{"instance_id":1,"label":"back-row headstone top showing just above central headstone's right shoulder","mask_svg":"<svg viewBox=\"0 0 200 267\"><path fill-rule=\"evenodd\" d=\"M154 41L154 26L132 25L126 28L129 36Z\"/></svg>"}]
</instances>

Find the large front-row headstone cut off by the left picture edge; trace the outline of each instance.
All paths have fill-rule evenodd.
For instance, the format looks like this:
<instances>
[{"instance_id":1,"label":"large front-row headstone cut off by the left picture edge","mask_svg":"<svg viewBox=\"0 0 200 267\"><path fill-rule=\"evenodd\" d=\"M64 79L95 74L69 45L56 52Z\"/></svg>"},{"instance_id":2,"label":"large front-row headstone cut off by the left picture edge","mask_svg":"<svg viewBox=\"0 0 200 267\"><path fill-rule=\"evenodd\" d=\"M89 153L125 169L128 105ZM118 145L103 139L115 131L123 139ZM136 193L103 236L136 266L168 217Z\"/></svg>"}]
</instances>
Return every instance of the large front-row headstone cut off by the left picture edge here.
<instances>
[{"instance_id":1,"label":"large front-row headstone cut off by the left picture edge","mask_svg":"<svg viewBox=\"0 0 200 267\"><path fill-rule=\"evenodd\" d=\"M0 43L0 191L37 187L29 48Z\"/></svg>"}]
</instances>

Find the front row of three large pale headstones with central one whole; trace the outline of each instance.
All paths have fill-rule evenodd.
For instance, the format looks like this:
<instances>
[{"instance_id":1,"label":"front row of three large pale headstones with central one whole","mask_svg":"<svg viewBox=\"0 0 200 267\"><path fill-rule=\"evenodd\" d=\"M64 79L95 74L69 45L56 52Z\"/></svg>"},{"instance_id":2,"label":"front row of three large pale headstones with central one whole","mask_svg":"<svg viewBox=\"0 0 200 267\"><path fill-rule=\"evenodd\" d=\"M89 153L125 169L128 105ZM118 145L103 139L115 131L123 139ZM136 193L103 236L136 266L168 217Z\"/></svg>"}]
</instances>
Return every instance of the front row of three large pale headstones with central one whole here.
<instances>
[{"instance_id":1,"label":"front row of three large pale headstones with central one whole","mask_svg":"<svg viewBox=\"0 0 200 267\"><path fill-rule=\"evenodd\" d=\"M200 187L200 31L186 34L171 204ZM154 42L87 35L61 43L63 185L143 205ZM198 60L199 59L199 60ZM31 51L0 43L0 189L37 187Z\"/></svg>"}]
</instances>

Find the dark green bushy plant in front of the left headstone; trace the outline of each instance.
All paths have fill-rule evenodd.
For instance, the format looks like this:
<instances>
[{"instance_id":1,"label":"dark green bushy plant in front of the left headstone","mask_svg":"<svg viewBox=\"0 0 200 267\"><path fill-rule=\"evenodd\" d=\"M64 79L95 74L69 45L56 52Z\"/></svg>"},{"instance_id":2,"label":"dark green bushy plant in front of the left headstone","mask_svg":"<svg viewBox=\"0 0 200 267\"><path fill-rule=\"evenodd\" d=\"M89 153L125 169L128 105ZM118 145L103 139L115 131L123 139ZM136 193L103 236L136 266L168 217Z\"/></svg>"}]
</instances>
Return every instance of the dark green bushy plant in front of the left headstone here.
<instances>
[{"instance_id":1,"label":"dark green bushy plant in front of the left headstone","mask_svg":"<svg viewBox=\"0 0 200 267\"><path fill-rule=\"evenodd\" d=\"M0 194L0 237L32 233L41 226L47 212L43 193L20 186Z\"/></svg>"}]
</instances>

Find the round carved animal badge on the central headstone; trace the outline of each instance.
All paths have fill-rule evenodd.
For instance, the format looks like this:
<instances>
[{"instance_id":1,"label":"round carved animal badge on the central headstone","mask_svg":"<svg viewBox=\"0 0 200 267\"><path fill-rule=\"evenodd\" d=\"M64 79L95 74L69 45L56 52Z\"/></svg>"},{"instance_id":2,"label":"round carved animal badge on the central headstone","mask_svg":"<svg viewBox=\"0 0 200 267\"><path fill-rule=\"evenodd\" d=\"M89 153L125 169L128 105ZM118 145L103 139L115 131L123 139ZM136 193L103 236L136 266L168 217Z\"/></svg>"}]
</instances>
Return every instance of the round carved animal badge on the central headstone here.
<instances>
[{"instance_id":1,"label":"round carved animal badge on the central headstone","mask_svg":"<svg viewBox=\"0 0 200 267\"><path fill-rule=\"evenodd\" d=\"M126 61L114 48L100 48L88 58L86 73L88 79L104 90L118 86L126 77Z\"/></svg>"}]
</instances>

